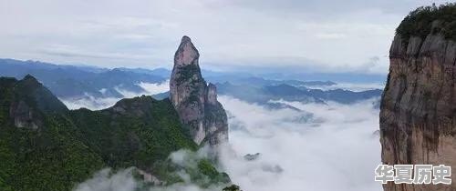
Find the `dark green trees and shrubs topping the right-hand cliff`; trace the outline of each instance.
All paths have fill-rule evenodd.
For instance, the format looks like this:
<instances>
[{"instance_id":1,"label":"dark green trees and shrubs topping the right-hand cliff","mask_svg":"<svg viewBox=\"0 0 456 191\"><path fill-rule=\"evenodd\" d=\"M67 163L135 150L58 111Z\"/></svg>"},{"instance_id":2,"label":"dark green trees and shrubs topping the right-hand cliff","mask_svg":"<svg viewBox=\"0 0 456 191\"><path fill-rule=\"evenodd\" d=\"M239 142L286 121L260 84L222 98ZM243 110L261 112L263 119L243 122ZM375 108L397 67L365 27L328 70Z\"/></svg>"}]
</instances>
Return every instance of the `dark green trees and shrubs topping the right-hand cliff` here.
<instances>
[{"instance_id":1,"label":"dark green trees and shrubs topping the right-hand cliff","mask_svg":"<svg viewBox=\"0 0 456 191\"><path fill-rule=\"evenodd\" d=\"M440 27L434 31L432 22L439 21ZM402 39L409 40L410 36L425 38L431 32L441 32L447 39L456 41L456 4L421 6L407 15L396 29L396 34Z\"/></svg>"}]
</instances>

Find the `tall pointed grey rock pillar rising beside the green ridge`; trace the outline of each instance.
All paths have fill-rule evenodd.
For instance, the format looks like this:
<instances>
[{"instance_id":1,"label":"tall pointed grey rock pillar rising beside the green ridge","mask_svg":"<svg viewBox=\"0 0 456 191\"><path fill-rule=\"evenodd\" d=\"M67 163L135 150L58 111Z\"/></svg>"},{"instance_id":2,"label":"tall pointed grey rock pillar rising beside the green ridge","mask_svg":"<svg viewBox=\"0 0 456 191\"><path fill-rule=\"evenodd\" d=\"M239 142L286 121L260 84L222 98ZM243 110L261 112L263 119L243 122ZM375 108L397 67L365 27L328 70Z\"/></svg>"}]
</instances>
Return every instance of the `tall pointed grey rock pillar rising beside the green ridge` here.
<instances>
[{"instance_id":1,"label":"tall pointed grey rock pillar rising beside the green ridge","mask_svg":"<svg viewBox=\"0 0 456 191\"><path fill-rule=\"evenodd\" d=\"M190 128L197 144L215 146L228 139L227 116L217 101L215 85L202 78L200 54L188 36L183 36L174 55L170 97L183 124Z\"/></svg>"}]
</instances>

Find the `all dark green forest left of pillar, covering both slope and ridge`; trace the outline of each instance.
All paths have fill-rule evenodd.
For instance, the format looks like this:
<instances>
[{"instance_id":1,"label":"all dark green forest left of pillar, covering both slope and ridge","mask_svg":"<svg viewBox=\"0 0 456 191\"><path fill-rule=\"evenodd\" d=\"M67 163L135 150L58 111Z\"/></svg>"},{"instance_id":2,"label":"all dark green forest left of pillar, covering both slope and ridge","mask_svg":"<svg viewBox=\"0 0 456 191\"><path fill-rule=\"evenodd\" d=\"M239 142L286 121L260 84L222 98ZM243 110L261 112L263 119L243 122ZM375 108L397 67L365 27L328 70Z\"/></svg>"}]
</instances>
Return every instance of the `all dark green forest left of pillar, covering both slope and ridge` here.
<instances>
[{"instance_id":1,"label":"all dark green forest left of pillar, covering both slope and ridge","mask_svg":"<svg viewBox=\"0 0 456 191\"><path fill-rule=\"evenodd\" d=\"M37 129L15 126L17 116L9 111L19 102L30 108L32 120L40 123ZM141 96L100 111L70 111L31 76L21 81L0 78L2 191L71 190L105 167L137 166L167 184L181 182L174 173L180 168L168 156L182 148L195 151L198 146L169 99ZM209 161L198 167L184 170L192 180L202 176L210 183L229 180Z\"/></svg>"}]
</instances>

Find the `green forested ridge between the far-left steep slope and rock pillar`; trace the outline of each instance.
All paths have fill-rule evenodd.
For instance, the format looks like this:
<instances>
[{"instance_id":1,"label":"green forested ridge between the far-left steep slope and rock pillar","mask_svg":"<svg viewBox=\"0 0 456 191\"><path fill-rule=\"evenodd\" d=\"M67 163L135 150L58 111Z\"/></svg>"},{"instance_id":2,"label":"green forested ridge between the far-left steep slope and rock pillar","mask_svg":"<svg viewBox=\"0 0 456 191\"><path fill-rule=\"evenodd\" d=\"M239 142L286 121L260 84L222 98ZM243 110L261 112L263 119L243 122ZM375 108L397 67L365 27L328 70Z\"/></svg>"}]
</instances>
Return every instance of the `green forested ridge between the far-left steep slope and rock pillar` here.
<instances>
[{"instance_id":1,"label":"green forested ridge between the far-left steep slope and rock pillar","mask_svg":"<svg viewBox=\"0 0 456 191\"><path fill-rule=\"evenodd\" d=\"M115 111L120 108L125 114ZM147 169L153 162L166 159L172 151L197 147L181 127L169 99L157 101L150 96L124 99L109 109L79 109L71 116L84 143L112 167Z\"/></svg>"}]
</instances>

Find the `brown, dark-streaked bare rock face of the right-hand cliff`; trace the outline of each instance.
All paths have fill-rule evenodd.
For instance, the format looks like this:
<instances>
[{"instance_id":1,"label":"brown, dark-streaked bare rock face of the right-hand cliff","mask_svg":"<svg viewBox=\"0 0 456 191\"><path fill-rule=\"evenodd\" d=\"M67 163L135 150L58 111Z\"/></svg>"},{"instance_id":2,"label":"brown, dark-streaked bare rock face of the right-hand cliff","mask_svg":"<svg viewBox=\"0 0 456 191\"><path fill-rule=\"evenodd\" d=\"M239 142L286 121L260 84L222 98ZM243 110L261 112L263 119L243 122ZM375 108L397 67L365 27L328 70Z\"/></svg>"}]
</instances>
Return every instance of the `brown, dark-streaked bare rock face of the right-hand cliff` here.
<instances>
[{"instance_id":1,"label":"brown, dark-streaked bare rock face of the right-hand cliff","mask_svg":"<svg viewBox=\"0 0 456 191\"><path fill-rule=\"evenodd\" d=\"M454 173L456 43L442 32L442 28L448 28L444 22L434 20L429 28L424 35L394 37L388 83L380 106L381 156L387 165L442 164L452 166ZM451 186L389 183L384 190L456 190L456 176L452 176L452 182Z\"/></svg>"}]
</instances>

